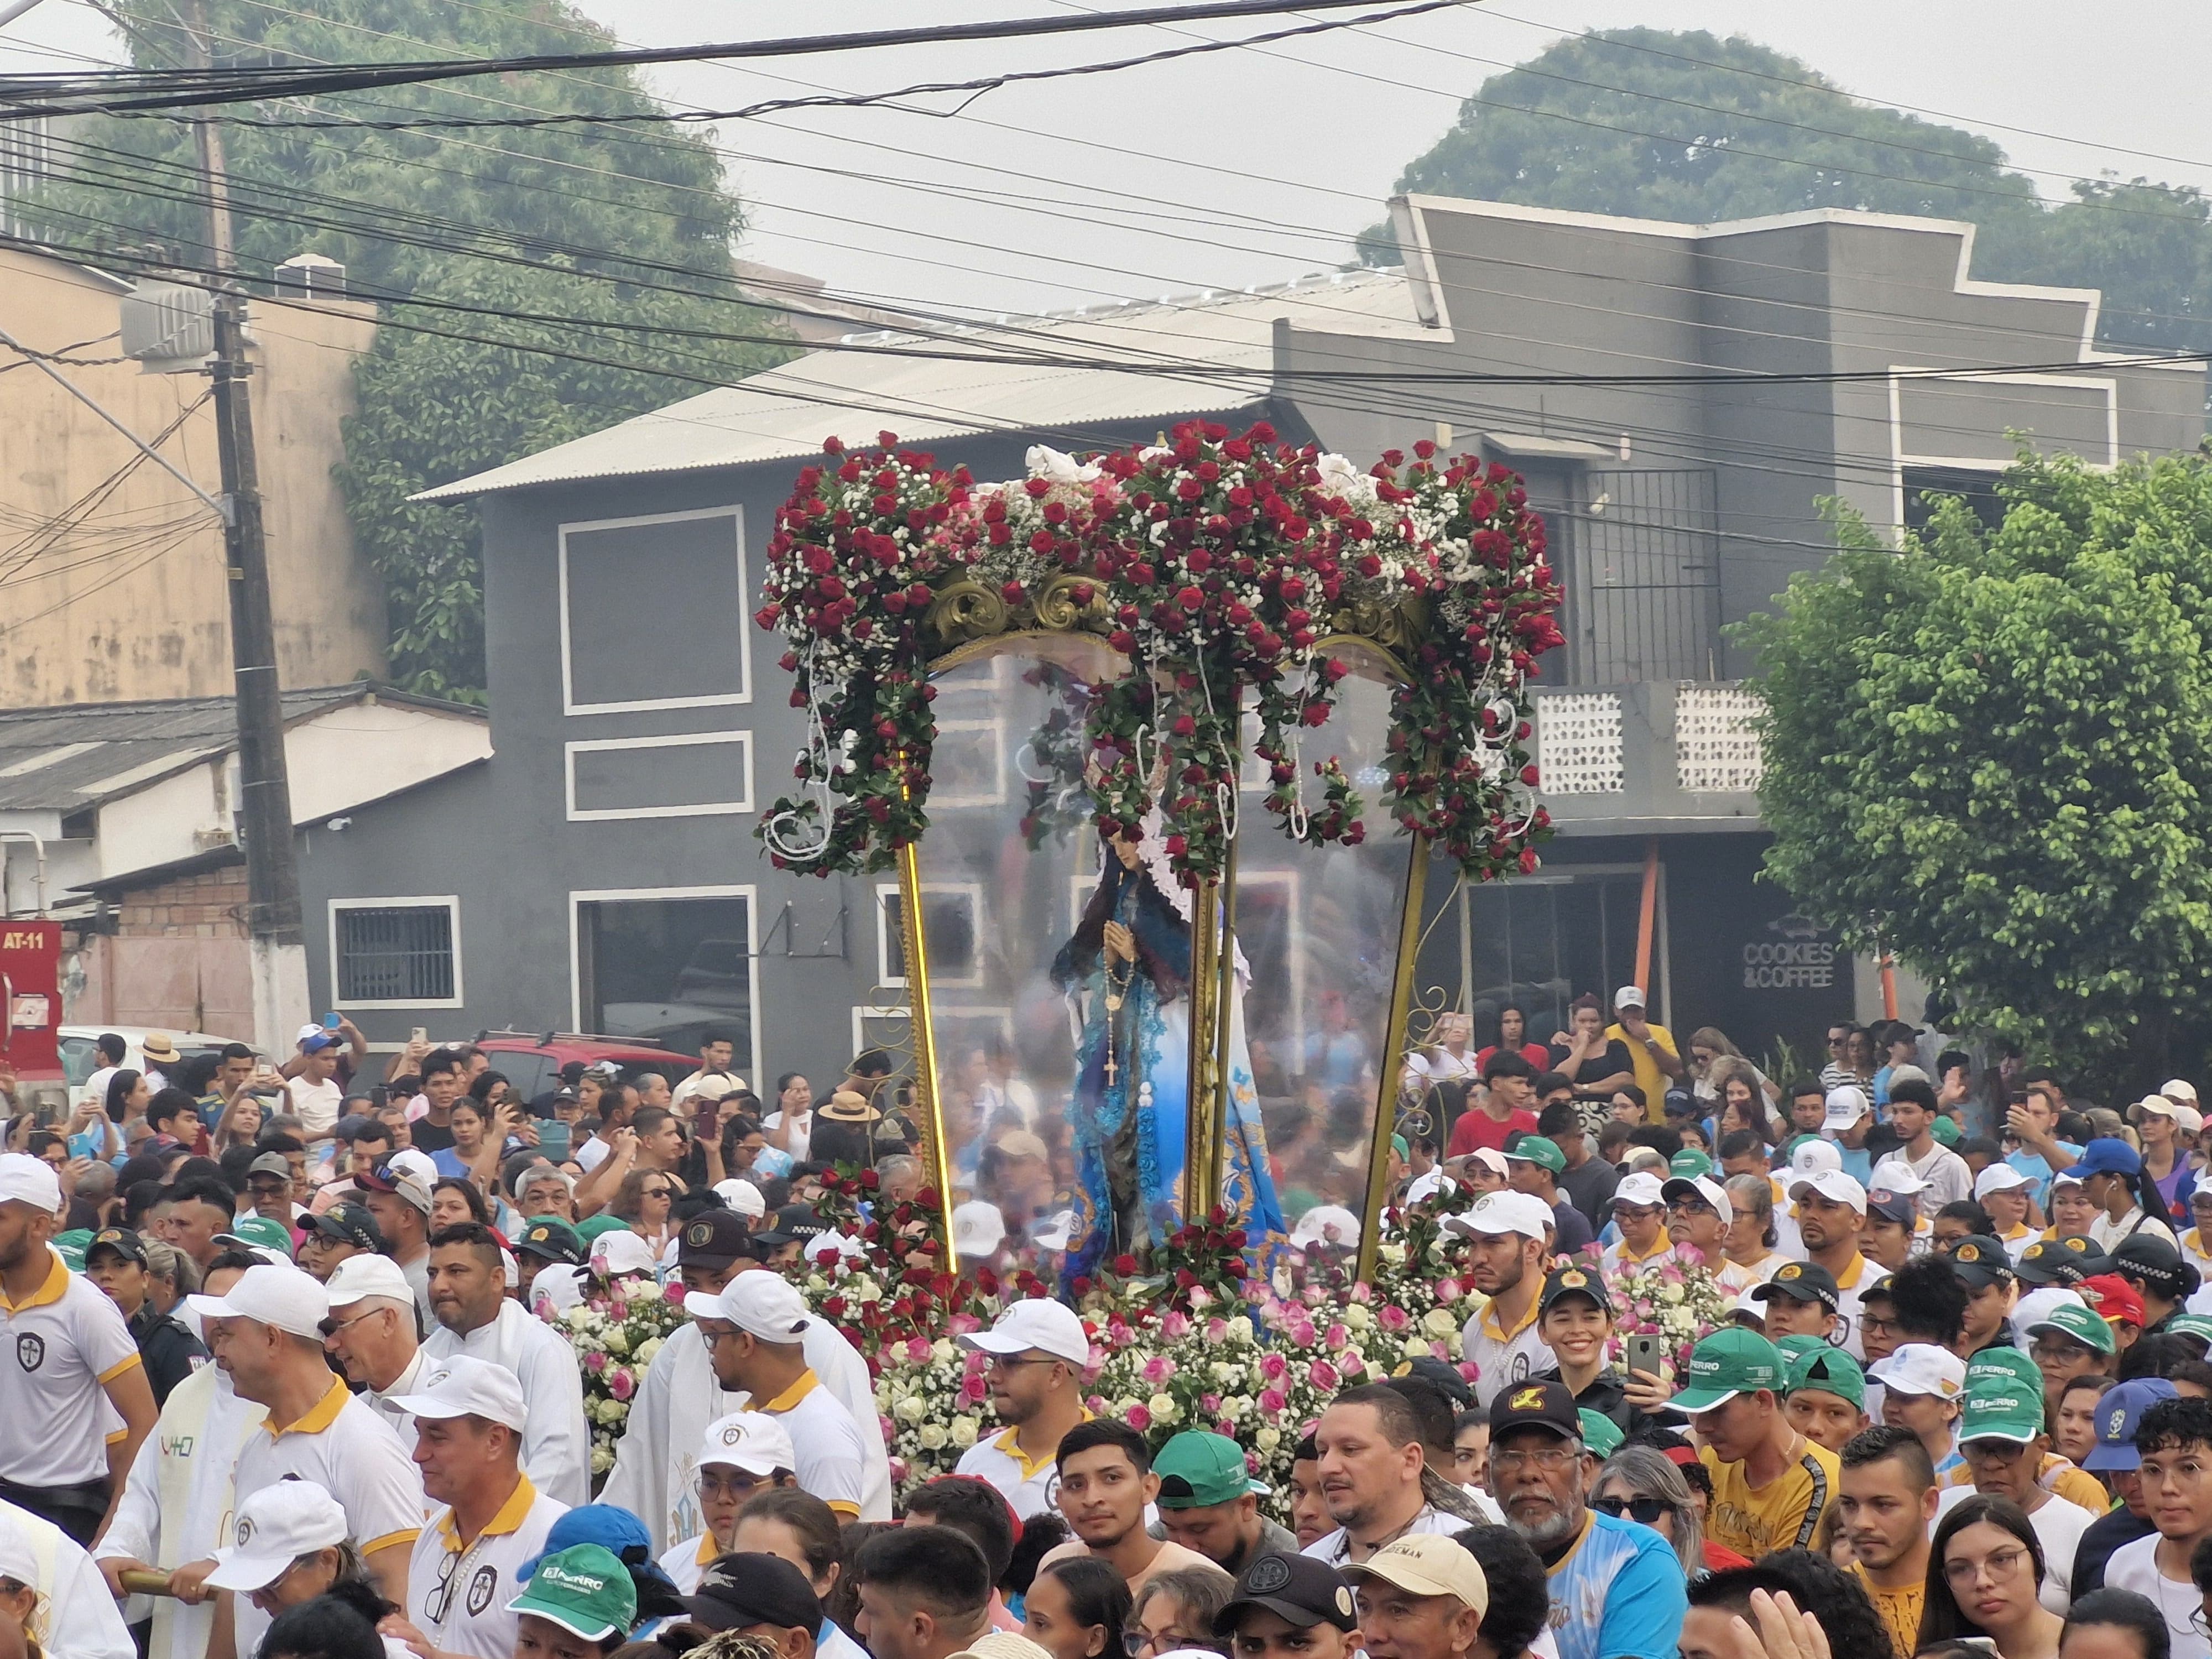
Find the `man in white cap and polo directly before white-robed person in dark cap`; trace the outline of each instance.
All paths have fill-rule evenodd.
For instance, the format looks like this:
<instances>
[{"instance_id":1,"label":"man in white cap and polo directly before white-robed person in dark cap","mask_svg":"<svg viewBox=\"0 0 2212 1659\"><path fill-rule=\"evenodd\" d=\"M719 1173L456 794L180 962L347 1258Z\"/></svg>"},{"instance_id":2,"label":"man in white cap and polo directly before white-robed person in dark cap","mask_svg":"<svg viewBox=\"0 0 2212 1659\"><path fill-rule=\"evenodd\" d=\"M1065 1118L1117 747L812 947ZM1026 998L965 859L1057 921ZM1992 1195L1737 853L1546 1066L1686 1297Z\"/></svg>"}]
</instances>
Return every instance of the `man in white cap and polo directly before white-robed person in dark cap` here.
<instances>
[{"instance_id":1,"label":"man in white cap and polo directly before white-robed person in dark cap","mask_svg":"<svg viewBox=\"0 0 2212 1659\"><path fill-rule=\"evenodd\" d=\"M843 1520L860 1517L860 1429L807 1365L807 1305L776 1274L739 1274L719 1296L692 1292L684 1312L699 1321L714 1378L743 1389L752 1411L783 1425L803 1491Z\"/></svg>"}]
</instances>

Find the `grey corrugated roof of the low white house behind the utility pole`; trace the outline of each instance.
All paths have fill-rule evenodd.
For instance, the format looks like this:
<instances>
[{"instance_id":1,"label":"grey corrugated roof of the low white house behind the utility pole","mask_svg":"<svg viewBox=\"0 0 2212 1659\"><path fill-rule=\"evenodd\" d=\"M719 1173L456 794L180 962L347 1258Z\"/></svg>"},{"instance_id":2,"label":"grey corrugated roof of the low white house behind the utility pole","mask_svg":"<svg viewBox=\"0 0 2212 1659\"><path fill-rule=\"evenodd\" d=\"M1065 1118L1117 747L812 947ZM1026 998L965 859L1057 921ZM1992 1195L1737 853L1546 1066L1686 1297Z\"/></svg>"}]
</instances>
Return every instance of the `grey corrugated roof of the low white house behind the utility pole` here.
<instances>
[{"instance_id":1,"label":"grey corrugated roof of the low white house behind the utility pole","mask_svg":"<svg viewBox=\"0 0 2212 1659\"><path fill-rule=\"evenodd\" d=\"M453 708L369 681L288 690L292 721L376 692L385 701ZM467 710L482 717L482 710ZM142 703L69 703L0 710L0 810L75 812L124 794L195 759L237 748L239 710L230 697L173 697Z\"/></svg>"}]
</instances>

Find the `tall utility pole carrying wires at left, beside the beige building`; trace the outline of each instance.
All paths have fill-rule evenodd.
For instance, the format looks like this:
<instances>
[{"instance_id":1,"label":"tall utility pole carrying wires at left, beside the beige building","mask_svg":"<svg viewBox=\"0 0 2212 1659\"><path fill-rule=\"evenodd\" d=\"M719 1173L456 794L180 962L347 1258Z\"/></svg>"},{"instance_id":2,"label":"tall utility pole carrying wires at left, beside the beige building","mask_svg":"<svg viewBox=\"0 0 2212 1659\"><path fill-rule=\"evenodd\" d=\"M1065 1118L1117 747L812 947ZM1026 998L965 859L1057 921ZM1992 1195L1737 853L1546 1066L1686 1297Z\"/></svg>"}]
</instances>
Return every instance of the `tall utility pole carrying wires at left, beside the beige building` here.
<instances>
[{"instance_id":1,"label":"tall utility pole carrying wires at left, beside the beige building","mask_svg":"<svg viewBox=\"0 0 2212 1659\"><path fill-rule=\"evenodd\" d=\"M201 0L184 0L181 20L197 69L210 69ZM292 845L292 781L283 754L283 697L276 684L276 622L270 560L261 531L261 471L254 462L254 409L246 363L246 296L237 283L230 181L223 137L192 122L208 190L208 252L215 276L215 440L223 473L223 575L230 588L230 672L239 703L239 803L246 838L246 931L254 980L254 1046L274 1060L292 1053L307 1018L307 947L301 936L299 860Z\"/></svg>"}]
</instances>

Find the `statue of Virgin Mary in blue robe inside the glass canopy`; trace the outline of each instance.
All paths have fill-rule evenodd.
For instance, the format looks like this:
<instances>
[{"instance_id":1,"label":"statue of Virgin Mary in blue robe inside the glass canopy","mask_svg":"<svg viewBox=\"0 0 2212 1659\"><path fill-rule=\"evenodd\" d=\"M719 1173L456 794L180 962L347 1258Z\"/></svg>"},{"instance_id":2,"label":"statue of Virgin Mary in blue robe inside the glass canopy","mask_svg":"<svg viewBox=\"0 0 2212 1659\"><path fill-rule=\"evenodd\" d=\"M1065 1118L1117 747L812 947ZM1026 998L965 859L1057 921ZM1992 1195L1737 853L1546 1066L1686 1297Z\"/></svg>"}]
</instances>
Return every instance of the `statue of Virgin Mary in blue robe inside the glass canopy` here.
<instances>
[{"instance_id":1,"label":"statue of Virgin Mary in blue robe inside the glass canopy","mask_svg":"<svg viewBox=\"0 0 2212 1659\"><path fill-rule=\"evenodd\" d=\"M1077 1241L1066 1276L1172 1232L1181 1214L1183 1137L1190 1113L1190 914L1192 891L1168 865L1159 814L1139 841L1108 841L1099 885L1075 936L1053 962L1075 1029ZM1243 993L1252 971L1237 951L1228 993L1228 1139L1221 1206L1259 1248L1283 1232L1267 1172L1267 1139L1252 1086Z\"/></svg>"}]
</instances>

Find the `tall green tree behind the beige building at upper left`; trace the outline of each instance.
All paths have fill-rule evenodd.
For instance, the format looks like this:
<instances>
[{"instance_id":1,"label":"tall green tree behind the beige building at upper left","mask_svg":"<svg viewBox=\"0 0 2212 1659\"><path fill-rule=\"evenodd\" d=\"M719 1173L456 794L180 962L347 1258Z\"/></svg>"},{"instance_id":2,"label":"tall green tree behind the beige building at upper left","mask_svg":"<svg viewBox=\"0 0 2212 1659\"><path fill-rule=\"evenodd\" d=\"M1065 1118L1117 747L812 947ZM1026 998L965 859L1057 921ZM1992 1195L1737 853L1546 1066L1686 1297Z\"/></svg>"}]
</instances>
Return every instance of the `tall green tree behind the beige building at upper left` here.
<instances>
[{"instance_id":1,"label":"tall green tree behind the beige building at upper left","mask_svg":"<svg viewBox=\"0 0 2212 1659\"><path fill-rule=\"evenodd\" d=\"M122 0L113 15L142 66L192 62L170 0ZM204 27L219 64L615 44L560 0L321 0L316 15L206 0ZM655 115L659 106L635 73L602 69L250 108L358 122L549 111ZM476 509L418 507L407 495L779 361L781 347L701 338L781 332L734 285L741 206L712 148L672 126L226 126L223 144L248 279L319 252L347 265L356 294L387 305L387 327L356 367L358 411L338 478L356 540L385 580L394 677L480 697ZM55 243L153 241L188 268L208 265L186 124L95 117L73 124L60 148L64 175L35 204Z\"/></svg>"}]
</instances>

